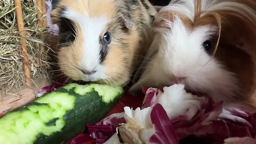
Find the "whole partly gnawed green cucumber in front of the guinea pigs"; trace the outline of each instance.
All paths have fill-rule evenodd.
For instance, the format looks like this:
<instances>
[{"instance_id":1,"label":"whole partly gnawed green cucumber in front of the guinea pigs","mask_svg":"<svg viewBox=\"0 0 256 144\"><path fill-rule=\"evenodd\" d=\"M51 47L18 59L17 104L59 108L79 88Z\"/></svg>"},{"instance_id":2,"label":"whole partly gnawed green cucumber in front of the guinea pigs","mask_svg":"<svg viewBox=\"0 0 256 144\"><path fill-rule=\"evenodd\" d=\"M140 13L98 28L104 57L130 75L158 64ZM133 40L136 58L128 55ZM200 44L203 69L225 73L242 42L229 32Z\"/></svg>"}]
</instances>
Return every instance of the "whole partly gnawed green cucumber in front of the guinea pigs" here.
<instances>
[{"instance_id":1,"label":"whole partly gnawed green cucumber in front of the guinea pigs","mask_svg":"<svg viewBox=\"0 0 256 144\"><path fill-rule=\"evenodd\" d=\"M1 144L66 142L114 108L123 87L68 84L0 118Z\"/></svg>"}]
</instances>

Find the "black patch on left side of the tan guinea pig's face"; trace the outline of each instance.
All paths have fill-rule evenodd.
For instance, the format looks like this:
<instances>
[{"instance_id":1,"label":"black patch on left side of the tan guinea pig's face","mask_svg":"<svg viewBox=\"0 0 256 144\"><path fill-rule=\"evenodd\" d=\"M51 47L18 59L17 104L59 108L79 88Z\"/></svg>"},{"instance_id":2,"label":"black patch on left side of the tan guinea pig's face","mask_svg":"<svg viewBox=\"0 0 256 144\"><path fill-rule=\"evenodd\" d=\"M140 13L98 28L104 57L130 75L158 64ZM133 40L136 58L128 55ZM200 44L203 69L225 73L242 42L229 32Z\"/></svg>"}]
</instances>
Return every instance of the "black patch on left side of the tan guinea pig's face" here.
<instances>
[{"instance_id":1,"label":"black patch on left side of the tan guinea pig's face","mask_svg":"<svg viewBox=\"0 0 256 144\"><path fill-rule=\"evenodd\" d=\"M64 11L66 11L66 9L62 7L60 15L62 15ZM60 47L69 46L75 41L76 37L73 21L65 17L60 17L59 23L59 45Z\"/></svg>"}]
</instances>

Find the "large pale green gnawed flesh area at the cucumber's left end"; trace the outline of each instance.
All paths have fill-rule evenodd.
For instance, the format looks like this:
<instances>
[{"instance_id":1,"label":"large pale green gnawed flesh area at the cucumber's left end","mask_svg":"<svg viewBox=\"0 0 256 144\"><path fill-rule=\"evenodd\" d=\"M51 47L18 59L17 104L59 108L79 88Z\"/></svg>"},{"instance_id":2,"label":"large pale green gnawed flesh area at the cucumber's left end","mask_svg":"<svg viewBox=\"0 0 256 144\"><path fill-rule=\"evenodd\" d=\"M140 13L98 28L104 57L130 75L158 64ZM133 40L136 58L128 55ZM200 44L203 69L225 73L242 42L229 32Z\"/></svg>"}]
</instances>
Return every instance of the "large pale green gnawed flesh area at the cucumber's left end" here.
<instances>
[{"instance_id":1,"label":"large pale green gnawed flesh area at the cucumber's left end","mask_svg":"<svg viewBox=\"0 0 256 144\"><path fill-rule=\"evenodd\" d=\"M36 103L13 111L0 119L0 143L34 143L38 134L51 135L65 126L64 116L75 106L76 98L62 92L52 92ZM56 119L55 124L50 124Z\"/></svg>"}]
</instances>

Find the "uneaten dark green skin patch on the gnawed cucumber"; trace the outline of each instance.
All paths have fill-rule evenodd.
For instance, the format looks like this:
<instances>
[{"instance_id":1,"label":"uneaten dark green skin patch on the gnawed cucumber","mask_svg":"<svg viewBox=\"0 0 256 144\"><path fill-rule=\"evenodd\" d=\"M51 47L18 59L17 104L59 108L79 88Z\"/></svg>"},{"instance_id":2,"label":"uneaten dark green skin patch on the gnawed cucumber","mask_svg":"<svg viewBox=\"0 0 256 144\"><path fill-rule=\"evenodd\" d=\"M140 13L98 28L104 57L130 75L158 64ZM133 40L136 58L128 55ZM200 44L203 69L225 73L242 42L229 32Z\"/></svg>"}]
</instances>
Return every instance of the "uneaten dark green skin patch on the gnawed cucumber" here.
<instances>
[{"instance_id":1,"label":"uneaten dark green skin patch on the gnawed cucumber","mask_svg":"<svg viewBox=\"0 0 256 144\"><path fill-rule=\"evenodd\" d=\"M62 128L62 131L50 136L39 135L34 143L59 144L74 138L85 130L87 123L94 124L100 121L121 99L121 97L116 97L113 102L106 104L96 91L87 93L84 97L76 94L73 89L70 91L69 93L75 95L77 100L75 108L67 111L65 115L66 125Z\"/></svg>"}]
</instances>

